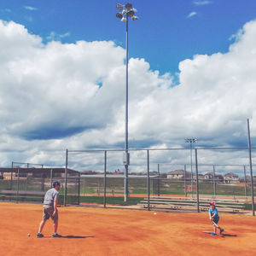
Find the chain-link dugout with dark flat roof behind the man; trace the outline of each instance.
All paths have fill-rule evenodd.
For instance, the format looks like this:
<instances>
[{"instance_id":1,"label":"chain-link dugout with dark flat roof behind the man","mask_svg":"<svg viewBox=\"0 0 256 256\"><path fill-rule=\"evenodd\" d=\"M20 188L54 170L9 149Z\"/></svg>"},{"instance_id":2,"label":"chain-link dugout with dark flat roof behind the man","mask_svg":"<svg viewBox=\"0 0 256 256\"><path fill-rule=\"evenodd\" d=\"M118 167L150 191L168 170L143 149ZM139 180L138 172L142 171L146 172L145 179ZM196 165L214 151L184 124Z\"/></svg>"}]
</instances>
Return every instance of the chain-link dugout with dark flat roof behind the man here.
<instances>
[{"instance_id":1,"label":"chain-link dugout with dark flat roof behind the man","mask_svg":"<svg viewBox=\"0 0 256 256\"><path fill-rule=\"evenodd\" d=\"M1 201L42 203L45 192L52 188L53 181L58 180L61 182L58 203L79 205L79 172L67 169L66 175L65 168L20 166L2 168L1 171L4 173L3 179L0 179Z\"/></svg>"}]
</instances>

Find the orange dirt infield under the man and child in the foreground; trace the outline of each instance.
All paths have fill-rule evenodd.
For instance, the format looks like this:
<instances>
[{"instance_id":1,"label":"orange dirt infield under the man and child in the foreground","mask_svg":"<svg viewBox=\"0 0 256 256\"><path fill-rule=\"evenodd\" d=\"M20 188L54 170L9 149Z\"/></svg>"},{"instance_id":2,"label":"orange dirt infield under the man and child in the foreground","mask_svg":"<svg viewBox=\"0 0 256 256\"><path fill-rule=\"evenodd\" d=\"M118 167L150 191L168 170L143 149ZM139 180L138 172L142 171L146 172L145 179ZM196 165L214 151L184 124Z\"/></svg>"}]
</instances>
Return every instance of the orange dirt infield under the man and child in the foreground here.
<instances>
[{"instance_id":1,"label":"orange dirt infield under the man and child in the foreground","mask_svg":"<svg viewBox=\"0 0 256 256\"><path fill-rule=\"evenodd\" d=\"M0 255L253 255L256 217L221 214L227 236L212 237L207 213L167 213L88 207L60 207L62 238L36 238L42 206L0 203ZM31 234L31 236L27 236ZM236 235L236 236L228 236ZM66 236L66 237L65 237Z\"/></svg>"}]
</instances>

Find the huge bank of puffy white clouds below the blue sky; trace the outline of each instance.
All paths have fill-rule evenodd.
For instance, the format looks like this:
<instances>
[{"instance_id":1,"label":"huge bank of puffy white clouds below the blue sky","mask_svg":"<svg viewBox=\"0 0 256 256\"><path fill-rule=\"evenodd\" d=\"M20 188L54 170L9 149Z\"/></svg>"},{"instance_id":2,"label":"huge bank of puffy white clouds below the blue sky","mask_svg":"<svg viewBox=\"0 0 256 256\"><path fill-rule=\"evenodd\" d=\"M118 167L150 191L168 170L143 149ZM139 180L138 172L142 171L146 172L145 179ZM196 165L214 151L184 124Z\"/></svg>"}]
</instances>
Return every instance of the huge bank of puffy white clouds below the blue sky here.
<instances>
[{"instance_id":1,"label":"huge bank of puffy white clouds below the blue sky","mask_svg":"<svg viewBox=\"0 0 256 256\"><path fill-rule=\"evenodd\" d=\"M175 87L170 74L160 76L147 61L131 58L131 148L183 147L185 137L197 137L198 146L246 144L247 118L254 138L255 45L253 20L229 52L181 61ZM123 147L125 49L106 41L43 44L24 26L3 20L0 49L2 166L11 160L63 166L65 148ZM244 155L208 152L200 161L246 162ZM189 152L158 157L189 163Z\"/></svg>"}]
</instances>

